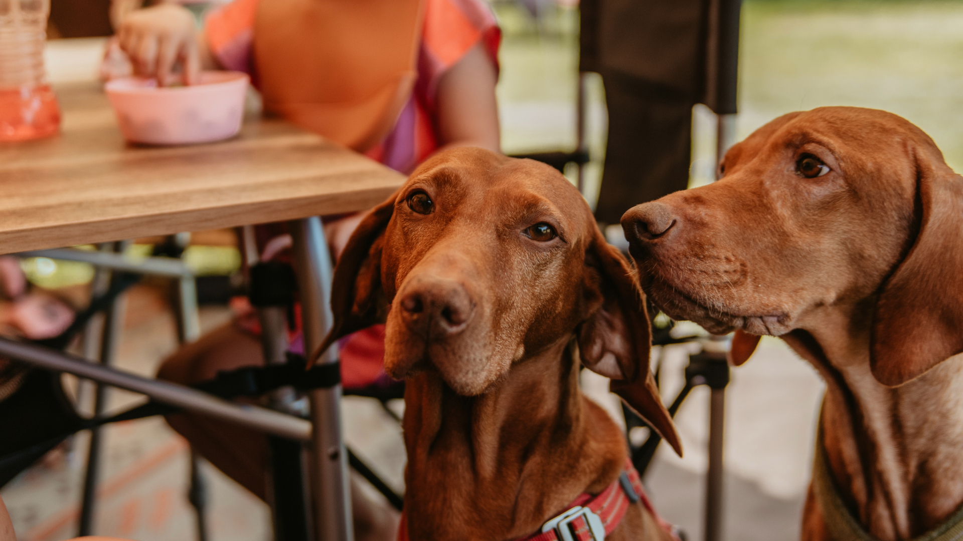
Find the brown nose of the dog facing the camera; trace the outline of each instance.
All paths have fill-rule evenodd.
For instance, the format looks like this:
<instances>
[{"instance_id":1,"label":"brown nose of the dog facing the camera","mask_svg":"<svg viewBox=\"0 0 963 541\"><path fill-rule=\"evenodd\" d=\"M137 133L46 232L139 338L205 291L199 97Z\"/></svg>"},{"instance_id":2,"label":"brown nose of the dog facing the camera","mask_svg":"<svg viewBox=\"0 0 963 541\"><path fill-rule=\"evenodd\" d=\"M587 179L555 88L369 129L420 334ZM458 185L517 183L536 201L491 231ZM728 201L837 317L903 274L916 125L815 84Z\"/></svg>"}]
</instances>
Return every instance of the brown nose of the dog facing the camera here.
<instances>
[{"instance_id":1,"label":"brown nose of the dog facing the camera","mask_svg":"<svg viewBox=\"0 0 963 541\"><path fill-rule=\"evenodd\" d=\"M461 284L433 276L414 276L404 285L399 304L408 328L426 339L460 332L475 311Z\"/></svg>"}]
</instances>

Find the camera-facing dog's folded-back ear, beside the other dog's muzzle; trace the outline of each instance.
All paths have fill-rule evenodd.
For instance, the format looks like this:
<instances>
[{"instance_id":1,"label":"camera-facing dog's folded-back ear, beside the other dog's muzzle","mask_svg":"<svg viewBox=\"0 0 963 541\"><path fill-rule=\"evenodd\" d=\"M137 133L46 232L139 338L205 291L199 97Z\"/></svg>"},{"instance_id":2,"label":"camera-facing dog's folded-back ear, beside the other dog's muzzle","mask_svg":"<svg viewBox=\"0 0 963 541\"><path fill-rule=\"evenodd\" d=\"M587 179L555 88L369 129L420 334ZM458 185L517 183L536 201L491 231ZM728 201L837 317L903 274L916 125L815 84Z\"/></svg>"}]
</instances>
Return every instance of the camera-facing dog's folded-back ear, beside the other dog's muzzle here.
<instances>
[{"instance_id":1,"label":"camera-facing dog's folded-back ear, beside the other dog's muzzle","mask_svg":"<svg viewBox=\"0 0 963 541\"><path fill-rule=\"evenodd\" d=\"M578 329L582 364L612 379L610 389L679 455L682 443L649 370L652 336L645 299L628 262L597 233L586 249L584 302Z\"/></svg>"}]
</instances>

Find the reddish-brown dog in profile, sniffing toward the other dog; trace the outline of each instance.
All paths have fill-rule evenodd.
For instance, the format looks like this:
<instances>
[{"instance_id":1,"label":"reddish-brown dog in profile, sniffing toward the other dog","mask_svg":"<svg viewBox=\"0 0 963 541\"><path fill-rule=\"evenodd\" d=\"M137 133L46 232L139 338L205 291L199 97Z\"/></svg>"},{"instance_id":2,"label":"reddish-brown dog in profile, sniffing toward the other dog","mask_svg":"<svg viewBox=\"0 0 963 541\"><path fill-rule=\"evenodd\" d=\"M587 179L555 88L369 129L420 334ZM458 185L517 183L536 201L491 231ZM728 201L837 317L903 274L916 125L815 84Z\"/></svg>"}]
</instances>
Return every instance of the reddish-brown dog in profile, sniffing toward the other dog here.
<instances>
[{"instance_id":1,"label":"reddish-brown dog in profile, sniffing toward the other dog","mask_svg":"<svg viewBox=\"0 0 963 541\"><path fill-rule=\"evenodd\" d=\"M846 541L841 510L882 540L938 527L963 502L963 179L916 126L846 107L781 116L719 167L622 218L643 289L737 329L742 360L769 334L820 371L804 539Z\"/></svg>"}]
</instances>

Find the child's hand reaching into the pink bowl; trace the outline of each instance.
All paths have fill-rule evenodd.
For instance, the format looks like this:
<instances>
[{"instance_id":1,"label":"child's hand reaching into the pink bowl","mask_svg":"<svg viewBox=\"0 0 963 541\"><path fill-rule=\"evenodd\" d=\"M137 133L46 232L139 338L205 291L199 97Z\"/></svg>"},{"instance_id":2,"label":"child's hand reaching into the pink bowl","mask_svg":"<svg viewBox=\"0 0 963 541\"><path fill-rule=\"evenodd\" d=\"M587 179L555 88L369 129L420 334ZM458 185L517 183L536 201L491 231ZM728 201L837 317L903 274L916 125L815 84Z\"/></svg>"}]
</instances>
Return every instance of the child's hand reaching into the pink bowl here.
<instances>
[{"instance_id":1,"label":"child's hand reaching into the pink bowl","mask_svg":"<svg viewBox=\"0 0 963 541\"><path fill-rule=\"evenodd\" d=\"M161 4L127 15L117 39L137 74L155 77L166 86L173 82L171 68L180 62L184 83L192 85L200 71L194 15L175 4Z\"/></svg>"}]
</instances>

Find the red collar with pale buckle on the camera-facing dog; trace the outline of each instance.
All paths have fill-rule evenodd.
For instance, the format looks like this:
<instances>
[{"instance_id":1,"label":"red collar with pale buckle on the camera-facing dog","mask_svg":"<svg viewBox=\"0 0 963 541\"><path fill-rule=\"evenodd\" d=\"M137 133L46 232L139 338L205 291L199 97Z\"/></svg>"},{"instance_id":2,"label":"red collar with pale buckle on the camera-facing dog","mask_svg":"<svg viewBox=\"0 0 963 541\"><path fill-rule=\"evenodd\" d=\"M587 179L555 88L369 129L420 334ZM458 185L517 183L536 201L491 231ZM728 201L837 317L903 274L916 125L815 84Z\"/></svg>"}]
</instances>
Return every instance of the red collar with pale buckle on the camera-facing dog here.
<instances>
[{"instance_id":1,"label":"red collar with pale buckle on the camera-facing dog","mask_svg":"<svg viewBox=\"0 0 963 541\"><path fill-rule=\"evenodd\" d=\"M629 493L630 490L632 491L631 494ZM629 459L626 459L622 475L606 487L601 494L593 497L590 494L583 493L569 505L569 509L565 513L545 524L556 522L560 517L570 518L570 520L562 519L563 524L560 525L560 528L566 528L566 531L572 534L570 539L572 541L593 541L595 537L592 536L589 521L594 522L595 518L586 513L584 509L591 511L598 518L601 524L596 523L596 528L599 526L605 528L605 535L609 535L622 521L629 505L637 501L641 502L652 513L660 527L672 533L672 526L656 514L652 503L649 502L645 490L642 488L642 482L638 478L638 472ZM574 518L571 518L573 516ZM559 536L560 528L539 531L517 541L565 541ZM404 513L402 513L402 523L398 528L398 541L408 541L408 528Z\"/></svg>"}]
</instances>

